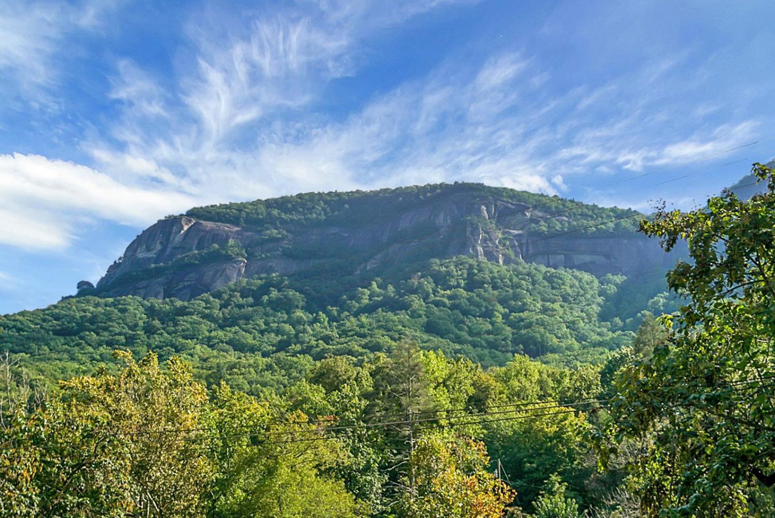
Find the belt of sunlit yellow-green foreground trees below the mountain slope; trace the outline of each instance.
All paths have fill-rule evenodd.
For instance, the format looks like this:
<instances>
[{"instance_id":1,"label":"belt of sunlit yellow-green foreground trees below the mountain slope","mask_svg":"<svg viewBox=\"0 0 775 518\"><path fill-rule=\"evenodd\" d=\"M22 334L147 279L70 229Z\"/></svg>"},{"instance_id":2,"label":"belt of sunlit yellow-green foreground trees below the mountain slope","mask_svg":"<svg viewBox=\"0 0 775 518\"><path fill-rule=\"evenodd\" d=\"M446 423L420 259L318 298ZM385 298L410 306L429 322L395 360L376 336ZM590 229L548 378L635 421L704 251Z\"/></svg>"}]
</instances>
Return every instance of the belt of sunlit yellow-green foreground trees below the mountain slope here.
<instances>
[{"instance_id":1,"label":"belt of sunlit yellow-green foreground trees below the mountain slope","mask_svg":"<svg viewBox=\"0 0 775 518\"><path fill-rule=\"evenodd\" d=\"M484 371L405 342L360 367L324 358L255 399L225 383L208 392L176 359L161 370L152 353L119 358L113 374L75 378L31 417L5 418L3 444L23 445L21 457L0 453L5 513L501 516L566 491L576 509L600 499L584 490L587 423L553 403L597 394L594 368L515 357ZM490 471L492 454L516 492ZM558 487L542 496L549 475Z\"/></svg>"}]
</instances>

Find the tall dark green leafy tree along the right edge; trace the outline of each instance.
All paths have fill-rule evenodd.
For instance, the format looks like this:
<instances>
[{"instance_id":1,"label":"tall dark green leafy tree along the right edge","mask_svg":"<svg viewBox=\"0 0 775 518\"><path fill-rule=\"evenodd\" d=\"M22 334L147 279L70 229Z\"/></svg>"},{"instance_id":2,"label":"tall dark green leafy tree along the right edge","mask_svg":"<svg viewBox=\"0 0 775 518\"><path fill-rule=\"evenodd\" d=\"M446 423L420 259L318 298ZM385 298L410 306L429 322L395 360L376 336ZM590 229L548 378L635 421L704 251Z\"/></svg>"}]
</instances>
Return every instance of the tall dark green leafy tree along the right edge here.
<instances>
[{"instance_id":1,"label":"tall dark green leafy tree along the right edge","mask_svg":"<svg viewBox=\"0 0 775 518\"><path fill-rule=\"evenodd\" d=\"M641 223L666 250L687 240L693 261L667 275L688 303L619 371L611 411L615 444L649 444L630 466L646 514L749 516L775 483L775 171L753 174L768 188L749 201L725 192Z\"/></svg>"}]
</instances>

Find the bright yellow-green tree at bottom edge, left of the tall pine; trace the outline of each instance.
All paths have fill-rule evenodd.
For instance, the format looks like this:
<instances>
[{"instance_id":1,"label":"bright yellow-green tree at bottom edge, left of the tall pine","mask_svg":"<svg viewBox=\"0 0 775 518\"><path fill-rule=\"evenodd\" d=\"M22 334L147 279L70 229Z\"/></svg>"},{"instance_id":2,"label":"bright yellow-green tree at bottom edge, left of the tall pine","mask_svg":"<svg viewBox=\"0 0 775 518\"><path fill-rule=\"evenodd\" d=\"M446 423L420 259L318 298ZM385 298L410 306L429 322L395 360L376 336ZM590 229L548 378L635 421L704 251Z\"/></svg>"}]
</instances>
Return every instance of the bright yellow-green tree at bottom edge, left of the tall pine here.
<instances>
[{"instance_id":1,"label":"bright yellow-green tree at bottom edge, left of the tall pine","mask_svg":"<svg viewBox=\"0 0 775 518\"><path fill-rule=\"evenodd\" d=\"M346 452L336 440L309 440L320 430L304 413L277 423L266 403L222 384L206 421L219 467L208 516L357 515L358 502L329 473Z\"/></svg>"}]
</instances>

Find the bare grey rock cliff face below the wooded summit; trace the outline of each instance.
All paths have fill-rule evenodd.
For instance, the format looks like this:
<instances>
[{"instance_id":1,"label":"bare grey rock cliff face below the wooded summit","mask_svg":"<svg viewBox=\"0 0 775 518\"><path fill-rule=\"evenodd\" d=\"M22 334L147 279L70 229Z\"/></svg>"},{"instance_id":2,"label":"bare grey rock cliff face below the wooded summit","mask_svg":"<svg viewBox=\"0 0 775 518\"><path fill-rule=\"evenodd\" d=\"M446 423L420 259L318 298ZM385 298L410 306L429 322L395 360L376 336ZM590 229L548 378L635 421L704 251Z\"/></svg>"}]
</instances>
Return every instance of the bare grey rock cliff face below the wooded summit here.
<instances>
[{"instance_id":1,"label":"bare grey rock cliff face below the wooded summit","mask_svg":"<svg viewBox=\"0 0 775 518\"><path fill-rule=\"evenodd\" d=\"M632 276L670 264L655 241L638 233L547 238L526 230L528 223L547 216L525 203L483 203L465 192L439 195L367 223L297 223L270 236L180 216L160 220L141 233L96 289L110 296L188 300L254 275L350 275L460 254L500 264L529 261L578 268L594 275ZM203 250L235 244L243 253L184 261Z\"/></svg>"}]
</instances>

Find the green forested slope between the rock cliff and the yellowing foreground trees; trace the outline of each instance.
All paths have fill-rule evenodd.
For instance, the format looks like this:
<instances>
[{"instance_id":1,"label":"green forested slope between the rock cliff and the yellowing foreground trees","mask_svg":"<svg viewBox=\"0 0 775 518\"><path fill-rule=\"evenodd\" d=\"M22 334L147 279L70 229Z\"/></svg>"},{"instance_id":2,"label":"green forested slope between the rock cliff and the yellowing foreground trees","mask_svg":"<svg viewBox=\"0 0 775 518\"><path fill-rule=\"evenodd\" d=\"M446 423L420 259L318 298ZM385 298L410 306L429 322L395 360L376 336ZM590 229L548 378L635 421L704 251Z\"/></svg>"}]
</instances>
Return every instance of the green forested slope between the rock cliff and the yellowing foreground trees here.
<instances>
[{"instance_id":1,"label":"green forested slope between the rock cliff and the yellowing foreground trees","mask_svg":"<svg viewBox=\"0 0 775 518\"><path fill-rule=\"evenodd\" d=\"M468 257L429 261L408 278L377 279L324 306L332 299L330 284L270 275L189 302L70 298L0 316L0 343L46 378L91 373L116 348L136 356L153 350L163 360L191 361L208 382L225 379L259 394L298 380L326 355L363 361L403 337L485 368L514 354L601 363L632 340L642 317L633 308L660 313L670 304L663 295L630 296L627 307L618 296L619 287L627 288L622 276L598 281L582 271ZM632 316L617 316L625 313Z\"/></svg>"}]
</instances>

